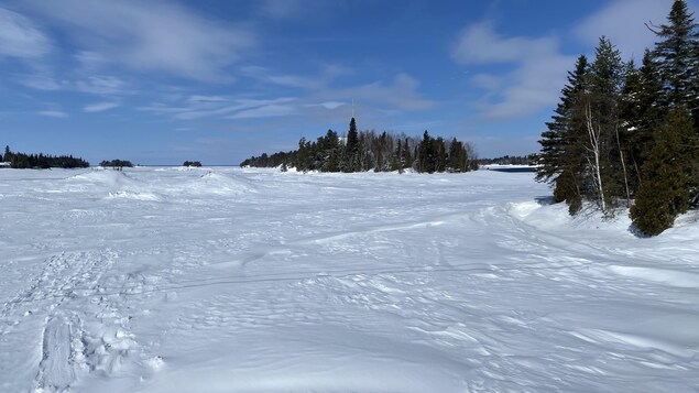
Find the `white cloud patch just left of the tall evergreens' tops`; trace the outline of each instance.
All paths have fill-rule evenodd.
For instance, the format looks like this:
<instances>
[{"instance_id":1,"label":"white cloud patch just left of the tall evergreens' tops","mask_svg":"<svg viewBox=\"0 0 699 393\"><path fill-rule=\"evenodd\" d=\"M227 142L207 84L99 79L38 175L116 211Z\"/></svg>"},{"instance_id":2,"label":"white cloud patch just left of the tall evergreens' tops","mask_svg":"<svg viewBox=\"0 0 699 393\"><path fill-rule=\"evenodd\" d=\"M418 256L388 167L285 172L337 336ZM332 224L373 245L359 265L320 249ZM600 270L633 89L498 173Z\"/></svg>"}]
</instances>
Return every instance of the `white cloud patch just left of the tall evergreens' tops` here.
<instances>
[{"instance_id":1,"label":"white cloud patch just left of the tall evergreens' tops","mask_svg":"<svg viewBox=\"0 0 699 393\"><path fill-rule=\"evenodd\" d=\"M560 53L555 37L503 36L490 22L461 31L451 55L468 66L511 66L509 73L480 73L471 79L487 91L479 103L481 116L498 120L526 117L555 105L575 61Z\"/></svg>"}]
</instances>

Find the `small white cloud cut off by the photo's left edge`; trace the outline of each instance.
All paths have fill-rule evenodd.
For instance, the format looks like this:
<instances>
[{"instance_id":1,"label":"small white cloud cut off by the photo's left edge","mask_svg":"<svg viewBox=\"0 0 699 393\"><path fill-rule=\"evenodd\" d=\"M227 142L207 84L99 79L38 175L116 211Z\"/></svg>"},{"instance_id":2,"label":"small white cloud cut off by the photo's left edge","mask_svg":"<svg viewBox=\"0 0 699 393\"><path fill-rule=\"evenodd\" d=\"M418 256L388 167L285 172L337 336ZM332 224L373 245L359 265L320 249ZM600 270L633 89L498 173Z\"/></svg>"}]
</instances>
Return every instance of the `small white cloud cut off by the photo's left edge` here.
<instances>
[{"instance_id":1,"label":"small white cloud cut off by the photo's left edge","mask_svg":"<svg viewBox=\"0 0 699 393\"><path fill-rule=\"evenodd\" d=\"M51 42L26 17L0 8L0 57L39 59Z\"/></svg>"}]
</instances>

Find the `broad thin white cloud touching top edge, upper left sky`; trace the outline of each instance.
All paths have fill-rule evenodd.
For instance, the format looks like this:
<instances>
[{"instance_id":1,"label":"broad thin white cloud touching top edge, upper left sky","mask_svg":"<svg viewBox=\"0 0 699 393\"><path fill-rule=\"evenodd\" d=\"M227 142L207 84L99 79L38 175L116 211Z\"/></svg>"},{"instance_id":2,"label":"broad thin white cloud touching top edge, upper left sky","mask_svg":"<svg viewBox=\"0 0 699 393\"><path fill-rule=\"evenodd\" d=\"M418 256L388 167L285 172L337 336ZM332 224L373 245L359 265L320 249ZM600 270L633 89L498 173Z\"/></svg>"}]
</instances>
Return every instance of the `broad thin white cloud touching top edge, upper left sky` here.
<instances>
[{"instance_id":1,"label":"broad thin white cloud touching top edge, upper left sky","mask_svg":"<svg viewBox=\"0 0 699 393\"><path fill-rule=\"evenodd\" d=\"M83 59L197 80L230 80L226 67L254 45L252 33L160 0L34 0L34 10L67 28ZM79 10L79 11L78 11ZM87 54L87 55L86 55Z\"/></svg>"}]
</instances>

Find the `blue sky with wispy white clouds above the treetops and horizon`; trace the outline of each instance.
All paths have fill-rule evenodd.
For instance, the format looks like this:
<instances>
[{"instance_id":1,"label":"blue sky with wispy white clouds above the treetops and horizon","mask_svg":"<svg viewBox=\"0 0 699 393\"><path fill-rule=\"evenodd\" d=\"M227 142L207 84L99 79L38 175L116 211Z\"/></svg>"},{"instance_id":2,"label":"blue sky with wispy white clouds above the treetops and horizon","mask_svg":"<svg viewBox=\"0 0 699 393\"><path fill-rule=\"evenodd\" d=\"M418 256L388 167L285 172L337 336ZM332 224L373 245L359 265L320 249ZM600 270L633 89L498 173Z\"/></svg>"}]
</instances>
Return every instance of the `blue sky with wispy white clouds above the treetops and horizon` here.
<instances>
[{"instance_id":1,"label":"blue sky with wispy white clouds above the treetops and horizon","mask_svg":"<svg viewBox=\"0 0 699 393\"><path fill-rule=\"evenodd\" d=\"M671 0L0 1L0 144L92 164L238 164L328 129L528 154L607 35ZM690 10L697 10L696 1Z\"/></svg>"}]
</instances>

